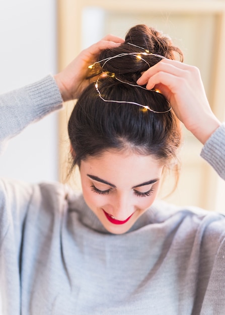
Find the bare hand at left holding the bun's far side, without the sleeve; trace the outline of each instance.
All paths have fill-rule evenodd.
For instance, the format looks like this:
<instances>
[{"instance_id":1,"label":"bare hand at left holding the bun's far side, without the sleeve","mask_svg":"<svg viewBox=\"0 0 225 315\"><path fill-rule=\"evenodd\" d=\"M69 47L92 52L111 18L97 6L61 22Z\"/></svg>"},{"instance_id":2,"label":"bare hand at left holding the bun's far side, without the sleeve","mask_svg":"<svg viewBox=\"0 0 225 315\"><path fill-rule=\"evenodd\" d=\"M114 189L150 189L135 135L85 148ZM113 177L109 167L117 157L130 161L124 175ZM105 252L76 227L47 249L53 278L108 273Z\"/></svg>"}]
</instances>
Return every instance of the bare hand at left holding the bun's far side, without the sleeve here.
<instances>
[{"instance_id":1,"label":"bare hand at left holding the bun's far side, without the sleeve","mask_svg":"<svg viewBox=\"0 0 225 315\"><path fill-rule=\"evenodd\" d=\"M97 57L104 49L114 48L123 43L120 37L107 35L102 40L83 50L65 69L56 74L55 80L63 101L77 99L83 90L94 81L88 80L88 66L97 61Z\"/></svg>"}]
</instances>

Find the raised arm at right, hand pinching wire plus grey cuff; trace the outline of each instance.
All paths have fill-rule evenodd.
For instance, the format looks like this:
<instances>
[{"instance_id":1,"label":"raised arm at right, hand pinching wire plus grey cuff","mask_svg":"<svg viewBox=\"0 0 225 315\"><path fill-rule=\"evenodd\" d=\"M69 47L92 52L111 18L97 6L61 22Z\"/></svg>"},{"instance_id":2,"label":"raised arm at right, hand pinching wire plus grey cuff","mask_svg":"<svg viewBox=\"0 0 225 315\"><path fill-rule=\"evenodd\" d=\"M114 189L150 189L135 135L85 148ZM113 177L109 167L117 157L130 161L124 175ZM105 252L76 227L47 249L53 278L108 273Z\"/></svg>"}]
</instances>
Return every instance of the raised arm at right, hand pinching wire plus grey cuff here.
<instances>
[{"instance_id":1,"label":"raised arm at right, hand pinching wire plus grey cuff","mask_svg":"<svg viewBox=\"0 0 225 315\"><path fill-rule=\"evenodd\" d=\"M204 144L201 156L225 180L225 124L213 114L198 68L163 59L137 81L147 89L159 89L185 127Z\"/></svg>"}]
</instances>

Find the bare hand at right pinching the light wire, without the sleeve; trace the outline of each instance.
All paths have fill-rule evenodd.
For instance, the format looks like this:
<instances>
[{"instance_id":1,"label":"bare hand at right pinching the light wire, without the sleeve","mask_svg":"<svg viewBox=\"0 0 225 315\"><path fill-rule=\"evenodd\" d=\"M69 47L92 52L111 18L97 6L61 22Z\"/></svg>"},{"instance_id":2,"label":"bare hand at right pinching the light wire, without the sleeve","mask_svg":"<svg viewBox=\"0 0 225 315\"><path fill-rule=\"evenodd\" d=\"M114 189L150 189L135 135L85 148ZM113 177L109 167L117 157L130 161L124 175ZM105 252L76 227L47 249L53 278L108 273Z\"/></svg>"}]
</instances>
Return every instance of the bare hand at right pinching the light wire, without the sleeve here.
<instances>
[{"instance_id":1,"label":"bare hand at right pinching the light wire, without the sleeve","mask_svg":"<svg viewBox=\"0 0 225 315\"><path fill-rule=\"evenodd\" d=\"M137 84L146 85L149 90L160 90L177 117L203 144L220 125L211 111L195 66L163 59L145 71Z\"/></svg>"}]
</instances>

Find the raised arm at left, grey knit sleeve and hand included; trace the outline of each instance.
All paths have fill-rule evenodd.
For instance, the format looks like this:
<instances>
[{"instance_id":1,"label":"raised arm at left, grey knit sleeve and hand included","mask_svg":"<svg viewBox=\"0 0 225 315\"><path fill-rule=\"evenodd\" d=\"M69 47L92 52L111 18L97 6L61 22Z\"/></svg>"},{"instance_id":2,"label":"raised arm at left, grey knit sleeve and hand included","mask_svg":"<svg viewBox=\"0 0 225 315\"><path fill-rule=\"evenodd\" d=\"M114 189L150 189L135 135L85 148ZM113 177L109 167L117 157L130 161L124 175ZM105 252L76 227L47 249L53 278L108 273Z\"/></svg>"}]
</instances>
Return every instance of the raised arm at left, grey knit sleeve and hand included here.
<instances>
[{"instance_id":1,"label":"raised arm at left, grey knit sleeve and hand included","mask_svg":"<svg viewBox=\"0 0 225 315\"><path fill-rule=\"evenodd\" d=\"M28 124L62 107L63 101L78 98L89 85L88 66L101 50L120 45L123 39L108 35L82 51L64 70L21 89L0 95L0 150L3 141ZM94 80L94 78L92 78Z\"/></svg>"}]
</instances>

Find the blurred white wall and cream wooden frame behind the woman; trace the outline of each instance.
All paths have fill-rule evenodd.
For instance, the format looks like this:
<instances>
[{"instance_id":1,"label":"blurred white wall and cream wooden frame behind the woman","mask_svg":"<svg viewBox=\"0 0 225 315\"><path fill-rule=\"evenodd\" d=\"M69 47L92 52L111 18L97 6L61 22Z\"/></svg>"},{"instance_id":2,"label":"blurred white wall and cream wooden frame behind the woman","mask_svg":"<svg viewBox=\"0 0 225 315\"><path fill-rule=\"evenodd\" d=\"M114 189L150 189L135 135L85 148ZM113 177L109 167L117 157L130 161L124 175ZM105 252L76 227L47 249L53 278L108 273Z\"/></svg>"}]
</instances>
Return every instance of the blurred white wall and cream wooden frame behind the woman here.
<instances>
[{"instance_id":1,"label":"blurred white wall and cream wooden frame behind the woman","mask_svg":"<svg viewBox=\"0 0 225 315\"><path fill-rule=\"evenodd\" d=\"M200 68L213 111L224 121L224 17L223 0L2 0L0 93L56 73L108 33L124 37L130 27L147 24L169 34L183 50L184 61ZM73 105L11 140L0 157L0 175L29 182L62 181L68 152L66 121ZM184 131L179 185L165 200L222 212L225 186L200 158L201 147ZM166 183L161 196L173 188L171 178Z\"/></svg>"}]
</instances>

